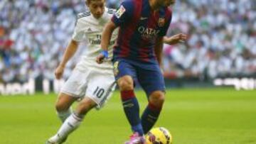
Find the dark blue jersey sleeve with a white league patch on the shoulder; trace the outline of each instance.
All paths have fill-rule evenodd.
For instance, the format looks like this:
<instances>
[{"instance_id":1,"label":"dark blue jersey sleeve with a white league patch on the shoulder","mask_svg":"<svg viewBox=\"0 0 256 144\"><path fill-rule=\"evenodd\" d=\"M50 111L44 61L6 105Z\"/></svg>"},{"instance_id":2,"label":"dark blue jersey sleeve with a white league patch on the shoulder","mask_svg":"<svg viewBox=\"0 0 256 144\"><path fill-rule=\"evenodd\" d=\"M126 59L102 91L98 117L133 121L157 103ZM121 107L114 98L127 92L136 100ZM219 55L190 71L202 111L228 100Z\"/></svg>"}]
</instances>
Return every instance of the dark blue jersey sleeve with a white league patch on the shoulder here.
<instances>
[{"instance_id":1,"label":"dark blue jersey sleeve with a white league patch on the shoulder","mask_svg":"<svg viewBox=\"0 0 256 144\"><path fill-rule=\"evenodd\" d=\"M128 23L128 21L132 18L134 3L132 0L127 0L122 2L119 6L119 9L112 16L112 22L116 26L123 26L124 23Z\"/></svg>"}]
</instances>

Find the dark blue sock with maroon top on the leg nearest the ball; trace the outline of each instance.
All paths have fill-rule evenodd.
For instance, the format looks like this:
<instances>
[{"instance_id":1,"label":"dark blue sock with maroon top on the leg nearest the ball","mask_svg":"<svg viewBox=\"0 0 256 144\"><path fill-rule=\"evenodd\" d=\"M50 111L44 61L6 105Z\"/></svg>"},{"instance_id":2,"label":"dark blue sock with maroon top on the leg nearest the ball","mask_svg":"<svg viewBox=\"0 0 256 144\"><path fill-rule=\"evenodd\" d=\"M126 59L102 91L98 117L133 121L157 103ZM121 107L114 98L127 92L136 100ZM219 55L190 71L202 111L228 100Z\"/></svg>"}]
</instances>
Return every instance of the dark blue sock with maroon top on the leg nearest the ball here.
<instances>
[{"instance_id":1,"label":"dark blue sock with maroon top on the leg nearest the ball","mask_svg":"<svg viewBox=\"0 0 256 144\"><path fill-rule=\"evenodd\" d=\"M142 114L142 127L144 134L148 133L150 129L154 126L157 119L159 118L161 108L157 108L153 104L146 106L144 113Z\"/></svg>"}]
</instances>

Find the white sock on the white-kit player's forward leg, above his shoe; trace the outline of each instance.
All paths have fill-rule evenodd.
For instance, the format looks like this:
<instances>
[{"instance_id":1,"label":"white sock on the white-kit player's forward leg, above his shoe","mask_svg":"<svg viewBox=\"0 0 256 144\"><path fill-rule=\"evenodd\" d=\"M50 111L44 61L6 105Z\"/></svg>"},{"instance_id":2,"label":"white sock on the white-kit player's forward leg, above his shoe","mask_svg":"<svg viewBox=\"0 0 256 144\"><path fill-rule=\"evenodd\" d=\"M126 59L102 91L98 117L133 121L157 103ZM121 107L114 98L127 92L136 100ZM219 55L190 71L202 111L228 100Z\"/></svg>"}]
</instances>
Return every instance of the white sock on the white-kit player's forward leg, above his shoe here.
<instances>
[{"instance_id":1,"label":"white sock on the white-kit player's forward leg, above his shoe","mask_svg":"<svg viewBox=\"0 0 256 144\"><path fill-rule=\"evenodd\" d=\"M72 113L60 127L56 136L58 137L58 139L66 138L70 133L75 131L75 129L80 126L81 122L82 118L76 116L75 113Z\"/></svg>"}]
</instances>

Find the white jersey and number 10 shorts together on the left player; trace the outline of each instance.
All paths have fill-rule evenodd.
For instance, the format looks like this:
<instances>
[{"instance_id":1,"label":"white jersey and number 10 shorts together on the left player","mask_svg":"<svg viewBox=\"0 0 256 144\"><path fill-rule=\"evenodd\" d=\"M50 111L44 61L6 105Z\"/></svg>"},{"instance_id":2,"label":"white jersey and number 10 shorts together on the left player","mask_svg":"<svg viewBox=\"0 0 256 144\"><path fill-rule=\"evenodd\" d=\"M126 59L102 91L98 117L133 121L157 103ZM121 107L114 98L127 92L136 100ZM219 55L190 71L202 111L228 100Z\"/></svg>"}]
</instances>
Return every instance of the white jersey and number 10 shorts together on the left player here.
<instances>
[{"instance_id":1,"label":"white jersey and number 10 shorts together on the left player","mask_svg":"<svg viewBox=\"0 0 256 144\"><path fill-rule=\"evenodd\" d=\"M105 24L110 21L114 10L105 9L102 18L96 19L87 11L78 15L78 21L73 33L73 40L86 42L87 50L82 55L82 59L76 65L75 70L63 85L61 92L82 98L87 96L97 104L100 109L107 99L110 99L115 88L113 74L112 51L117 31L114 31L109 46L109 59L101 65L97 64L96 57L100 54L100 41Z\"/></svg>"}]
</instances>

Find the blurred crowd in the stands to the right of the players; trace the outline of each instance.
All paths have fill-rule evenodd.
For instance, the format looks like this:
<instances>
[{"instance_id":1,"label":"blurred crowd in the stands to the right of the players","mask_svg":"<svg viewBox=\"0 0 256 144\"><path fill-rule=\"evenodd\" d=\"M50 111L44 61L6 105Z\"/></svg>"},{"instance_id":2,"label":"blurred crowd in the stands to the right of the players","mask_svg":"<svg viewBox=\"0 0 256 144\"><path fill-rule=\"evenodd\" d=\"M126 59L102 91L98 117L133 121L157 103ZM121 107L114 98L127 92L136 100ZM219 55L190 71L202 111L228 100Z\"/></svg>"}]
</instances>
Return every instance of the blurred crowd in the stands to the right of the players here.
<instances>
[{"instance_id":1,"label":"blurred crowd in the stands to the right of the players","mask_svg":"<svg viewBox=\"0 0 256 144\"><path fill-rule=\"evenodd\" d=\"M171 62L176 65L171 67L172 73L182 77L186 74L210 78L255 74L256 11L253 4L253 1L230 0L179 1L171 27L190 33L190 40L187 50L172 48L169 57L174 60L165 61L166 70L170 70ZM250 58L245 58L244 51ZM177 57L184 58L177 63Z\"/></svg>"}]
</instances>

